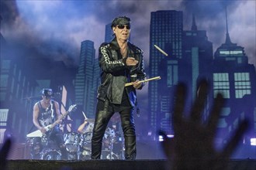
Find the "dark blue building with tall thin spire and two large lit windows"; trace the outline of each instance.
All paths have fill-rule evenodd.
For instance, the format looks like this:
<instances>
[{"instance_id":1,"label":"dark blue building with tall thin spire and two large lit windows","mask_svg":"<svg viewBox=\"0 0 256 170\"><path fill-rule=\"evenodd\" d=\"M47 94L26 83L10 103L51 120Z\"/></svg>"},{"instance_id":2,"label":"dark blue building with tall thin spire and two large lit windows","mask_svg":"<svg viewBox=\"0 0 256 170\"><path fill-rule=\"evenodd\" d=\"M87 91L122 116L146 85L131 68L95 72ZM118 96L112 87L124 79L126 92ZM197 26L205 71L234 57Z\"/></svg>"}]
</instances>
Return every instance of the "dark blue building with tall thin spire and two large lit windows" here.
<instances>
[{"instance_id":1,"label":"dark blue building with tall thin spire and two large lit windows","mask_svg":"<svg viewBox=\"0 0 256 170\"><path fill-rule=\"evenodd\" d=\"M246 117L251 121L252 127L244 135L245 144L250 143L250 139L256 136L256 73L254 65L248 63L244 47L231 42L227 9L226 27L226 41L214 53L215 67L211 76L213 97L216 97L216 93L223 93L226 99L219 122L218 141L226 143L227 136Z\"/></svg>"}]
</instances>

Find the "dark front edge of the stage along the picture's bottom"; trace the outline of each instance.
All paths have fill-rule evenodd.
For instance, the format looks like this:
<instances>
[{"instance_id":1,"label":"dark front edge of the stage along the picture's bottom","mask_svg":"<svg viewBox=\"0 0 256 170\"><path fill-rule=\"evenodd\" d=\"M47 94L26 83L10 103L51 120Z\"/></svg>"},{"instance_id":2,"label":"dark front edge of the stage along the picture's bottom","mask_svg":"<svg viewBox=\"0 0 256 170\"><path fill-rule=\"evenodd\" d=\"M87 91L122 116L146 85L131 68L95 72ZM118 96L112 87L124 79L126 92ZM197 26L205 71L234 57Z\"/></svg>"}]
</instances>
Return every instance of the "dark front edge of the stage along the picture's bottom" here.
<instances>
[{"instance_id":1,"label":"dark front edge of the stage along the picture's bottom","mask_svg":"<svg viewBox=\"0 0 256 170\"><path fill-rule=\"evenodd\" d=\"M7 170L44 170L44 169L89 169L89 170L165 170L170 169L165 159L161 160L86 160L86 161L46 161L46 160L9 160ZM229 169L255 170L255 159L234 159L229 162Z\"/></svg>"}]
</instances>

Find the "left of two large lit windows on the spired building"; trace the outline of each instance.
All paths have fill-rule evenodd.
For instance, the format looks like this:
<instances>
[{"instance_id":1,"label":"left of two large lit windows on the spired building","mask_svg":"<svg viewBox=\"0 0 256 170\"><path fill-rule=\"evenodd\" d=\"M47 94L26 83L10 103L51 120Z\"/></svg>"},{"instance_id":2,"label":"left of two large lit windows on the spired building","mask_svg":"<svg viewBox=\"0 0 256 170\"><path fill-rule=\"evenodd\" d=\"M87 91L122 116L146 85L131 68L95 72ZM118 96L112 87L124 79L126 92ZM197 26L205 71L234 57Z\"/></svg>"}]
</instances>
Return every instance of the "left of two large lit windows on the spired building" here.
<instances>
[{"instance_id":1,"label":"left of two large lit windows on the spired building","mask_svg":"<svg viewBox=\"0 0 256 170\"><path fill-rule=\"evenodd\" d=\"M213 73L213 93L222 93L224 98L230 98L230 82L228 73Z\"/></svg>"}]
</instances>

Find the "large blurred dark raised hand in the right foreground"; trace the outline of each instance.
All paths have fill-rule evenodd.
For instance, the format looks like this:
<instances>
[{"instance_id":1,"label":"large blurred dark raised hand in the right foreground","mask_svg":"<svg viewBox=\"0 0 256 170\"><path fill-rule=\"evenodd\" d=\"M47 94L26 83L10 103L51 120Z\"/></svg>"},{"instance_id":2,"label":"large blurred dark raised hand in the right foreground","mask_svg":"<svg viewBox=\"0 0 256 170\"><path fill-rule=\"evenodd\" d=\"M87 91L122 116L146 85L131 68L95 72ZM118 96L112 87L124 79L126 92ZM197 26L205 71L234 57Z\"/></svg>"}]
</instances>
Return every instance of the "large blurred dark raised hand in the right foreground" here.
<instances>
[{"instance_id":1,"label":"large blurred dark raised hand in the right foreground","mask_svg":"<svg viewBox=\"0 0 256 170\"><path fill-rule=\"evenodd\" d=\"M227 169L230 155L247 130L248 122L244 120L227 145L220 151L216 150L214 138L224 100L220 93L217 94L209 120L206 124L202 124L202 110L206 103L207 89L208 83L202 81L190 116L185 118L182 116L185 108L185 86L181 83L178 85L173 115L175 137L168 138L164 132L161 132L164 136L162 147L171 162L171 169Z\"/></svg>"}]
</instances>

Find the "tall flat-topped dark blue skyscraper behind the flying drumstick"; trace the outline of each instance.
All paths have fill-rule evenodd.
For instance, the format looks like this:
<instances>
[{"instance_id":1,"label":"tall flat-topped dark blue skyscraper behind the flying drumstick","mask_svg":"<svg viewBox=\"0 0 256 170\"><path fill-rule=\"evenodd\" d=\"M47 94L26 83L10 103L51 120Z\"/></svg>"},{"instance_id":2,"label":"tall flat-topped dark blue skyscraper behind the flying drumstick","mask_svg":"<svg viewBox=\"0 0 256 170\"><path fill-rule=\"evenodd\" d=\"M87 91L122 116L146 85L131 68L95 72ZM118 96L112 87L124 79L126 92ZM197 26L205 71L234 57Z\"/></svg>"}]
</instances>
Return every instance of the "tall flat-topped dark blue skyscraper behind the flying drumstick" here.
<instances>
[{"instance_id":1,"label":"tall flat-topped dark blue skyscraper behind the flying drumstick","mask_svg":"<svg viewBox=\"0 0 256 170\"><path fill-rule=\"evenodd\" d=\"M168 107L169 93L160 95L161 83L166 87L174 87L178 83L178 59L182 59L182 12L157 11L150 16L150 77L159 76L161 63L168 59L167 74L162 74L163 79L149 83L149 124L153 131L160 128L161 120L157 120L162 110ZM154 45L163 49L168 56L160 53ZM163 82L166 80L166 82ZM164 107L166 107L164 109Z\"/></svg>"}]
</instances>

